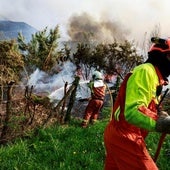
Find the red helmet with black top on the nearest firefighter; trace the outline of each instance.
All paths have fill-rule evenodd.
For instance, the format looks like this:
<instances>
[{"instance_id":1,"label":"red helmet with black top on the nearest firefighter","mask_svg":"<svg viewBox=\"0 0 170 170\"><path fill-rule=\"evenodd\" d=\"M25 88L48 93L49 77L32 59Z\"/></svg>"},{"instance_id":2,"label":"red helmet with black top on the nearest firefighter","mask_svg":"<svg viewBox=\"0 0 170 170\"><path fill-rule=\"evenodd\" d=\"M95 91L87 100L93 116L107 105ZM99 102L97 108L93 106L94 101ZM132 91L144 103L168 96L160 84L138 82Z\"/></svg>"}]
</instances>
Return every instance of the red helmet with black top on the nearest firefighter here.
<instances>
[{"instance_id":1,"label":"red helmet with black top on the nearest firefighter","mask_svg":"<svg viewBox=\"0 0 170 170\"><path fill-rule=\"evenodd\" d=\"M151 42L153 43L149 52L160 51L162 53L170 52L170 38L162 39L159 37L152 37Z\"/></svg>"}]
</instances>

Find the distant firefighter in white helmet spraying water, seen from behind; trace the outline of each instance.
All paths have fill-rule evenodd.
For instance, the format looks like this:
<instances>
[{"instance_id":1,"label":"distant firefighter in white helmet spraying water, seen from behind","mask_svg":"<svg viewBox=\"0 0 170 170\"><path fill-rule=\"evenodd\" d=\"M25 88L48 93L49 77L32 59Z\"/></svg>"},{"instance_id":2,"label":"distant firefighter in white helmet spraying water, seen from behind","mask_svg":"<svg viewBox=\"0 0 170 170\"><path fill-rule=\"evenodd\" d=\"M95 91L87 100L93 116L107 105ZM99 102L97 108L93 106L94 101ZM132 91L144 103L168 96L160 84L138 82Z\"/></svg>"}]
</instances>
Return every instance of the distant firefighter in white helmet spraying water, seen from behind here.
<instances>
[{"instance_id":1,"label":"distant firefighter in white helmet spraying water, seen from behind","mask_svg":"<svg viewBox=\"0 0 170 170\"><path fill-rule=\"evenodd\" d=\"M99 116L105 97L106 85L103 81L103 75L99 71L94 71L92 74L92 80L89 82L88 87L91 90L91 98L85 109L83 121L81 126L87 127L88 123L95 123Z\"/></svg>"}]
</instances>

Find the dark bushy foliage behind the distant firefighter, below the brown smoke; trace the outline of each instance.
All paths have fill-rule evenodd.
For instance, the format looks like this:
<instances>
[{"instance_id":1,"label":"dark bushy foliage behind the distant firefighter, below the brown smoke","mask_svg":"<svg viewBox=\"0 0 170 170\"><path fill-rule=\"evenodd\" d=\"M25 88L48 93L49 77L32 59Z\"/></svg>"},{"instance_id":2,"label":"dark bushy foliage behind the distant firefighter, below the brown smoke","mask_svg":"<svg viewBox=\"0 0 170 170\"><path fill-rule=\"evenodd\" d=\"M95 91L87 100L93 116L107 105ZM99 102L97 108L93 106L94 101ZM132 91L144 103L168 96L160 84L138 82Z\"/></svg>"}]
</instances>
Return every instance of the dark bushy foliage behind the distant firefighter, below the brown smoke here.
<instances>
[{"instance_id":1,"label":"dark bushy foliage behind the distant firefighter, below the brown smoke","mask_svg":"<svg viewBox=\"0 0 170 170\"><path fill-rule=\"evenodd\" d=\"M134 44L126 40L97 45L79 43L73 58L76 65L84 68L86 77L95 68L107 74L117 74L123 79L127 72L143 62L143 56L137 54Z\"/></svg>"}]
</instances>

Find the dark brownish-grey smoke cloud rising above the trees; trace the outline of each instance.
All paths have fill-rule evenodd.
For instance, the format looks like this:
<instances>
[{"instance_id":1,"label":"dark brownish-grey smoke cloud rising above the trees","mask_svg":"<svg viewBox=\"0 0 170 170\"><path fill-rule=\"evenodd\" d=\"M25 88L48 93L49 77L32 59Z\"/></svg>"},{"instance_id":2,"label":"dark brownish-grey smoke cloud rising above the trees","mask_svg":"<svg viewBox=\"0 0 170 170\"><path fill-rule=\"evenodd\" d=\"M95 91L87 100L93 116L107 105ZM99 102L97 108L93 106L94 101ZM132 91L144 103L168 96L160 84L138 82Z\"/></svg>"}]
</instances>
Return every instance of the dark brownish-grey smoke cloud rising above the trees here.
<instances>
[{"instance_id":1,"label":"dark brownish-grey smoke cloud rising above the trees","mask_svg":"<svg viewBox=\"0 0 170 170\"><path fill-rule=\"evenodd\" d=\"M125 40L129 31L118 23L103 18L97 20L87 13L73 15L68 22L68 35L71 41L113 42Z\"/></svg>"}]
</instances>

